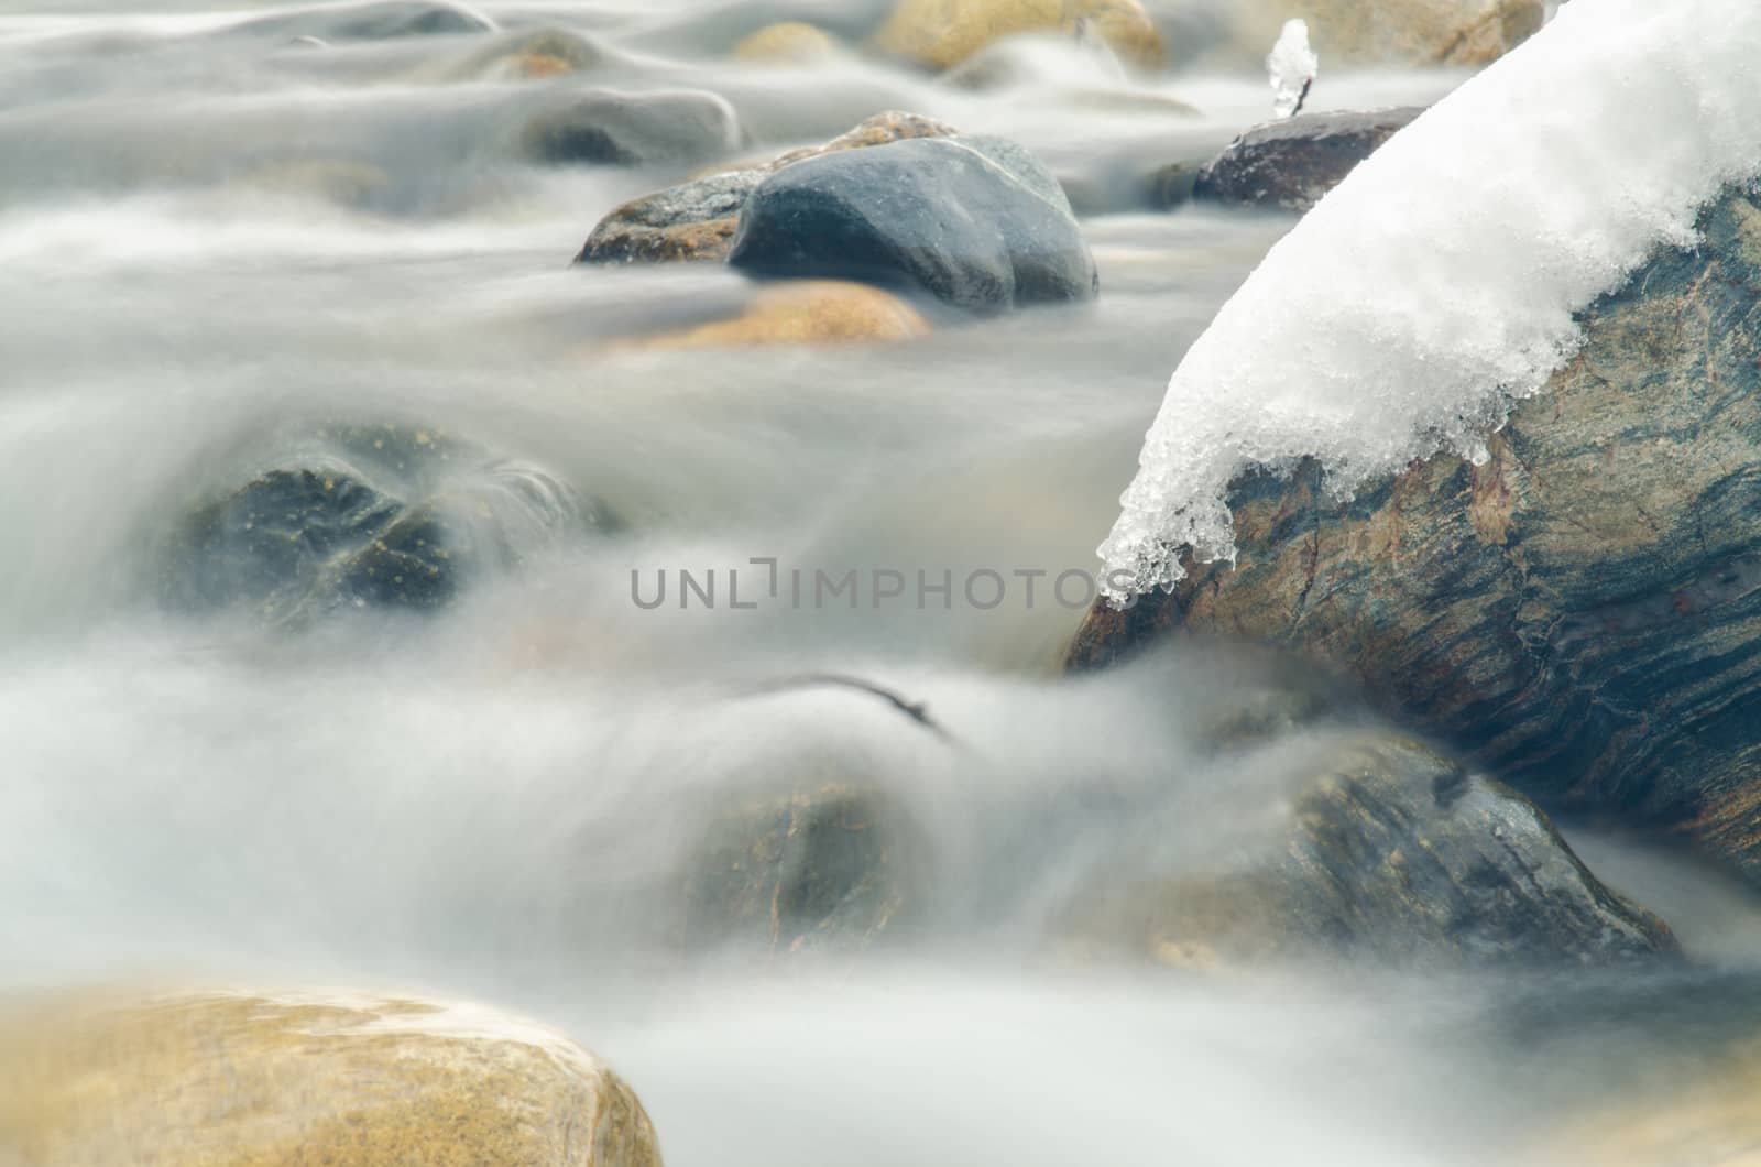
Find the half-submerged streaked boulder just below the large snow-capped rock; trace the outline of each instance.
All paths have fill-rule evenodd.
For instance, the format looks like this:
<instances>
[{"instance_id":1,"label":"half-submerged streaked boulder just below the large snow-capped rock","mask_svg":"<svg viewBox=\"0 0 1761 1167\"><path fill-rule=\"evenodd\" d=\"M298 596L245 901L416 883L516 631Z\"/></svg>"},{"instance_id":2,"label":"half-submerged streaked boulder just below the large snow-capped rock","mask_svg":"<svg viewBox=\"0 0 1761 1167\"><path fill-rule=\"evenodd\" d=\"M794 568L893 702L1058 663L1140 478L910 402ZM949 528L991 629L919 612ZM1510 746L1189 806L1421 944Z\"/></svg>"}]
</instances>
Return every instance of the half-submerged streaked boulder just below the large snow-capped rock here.
<instances>
[{"instance_id":1,"label":"half-submerged streaked boulder just below the large snow-capped rock","mask_svg":"<svg viewBox=\"0 0 1761 1167\"><path fill-rule=\"evenodd\" d=\"M1250 797L1249 797L1250 795ZM1404 966L1613 964L1676 950L1514 790L1389 732L1247 754L1222 818L1171 806L1109 846L1057 934L1173 964L1374 957ZM1192 841L1180 821L1220 825Z\"/></svg>"}]
</instances>

